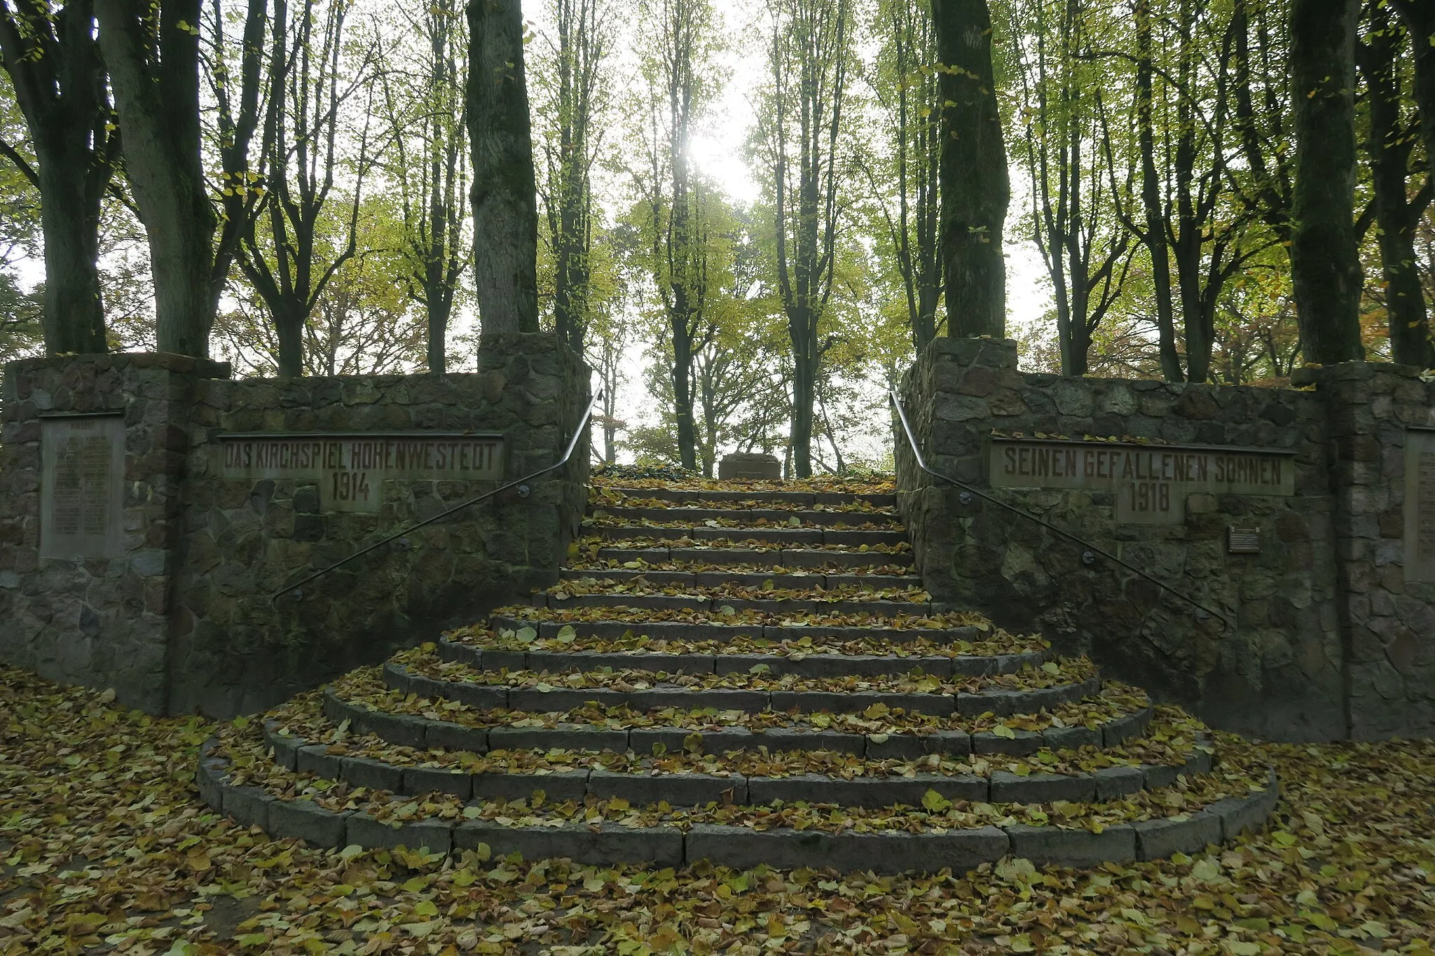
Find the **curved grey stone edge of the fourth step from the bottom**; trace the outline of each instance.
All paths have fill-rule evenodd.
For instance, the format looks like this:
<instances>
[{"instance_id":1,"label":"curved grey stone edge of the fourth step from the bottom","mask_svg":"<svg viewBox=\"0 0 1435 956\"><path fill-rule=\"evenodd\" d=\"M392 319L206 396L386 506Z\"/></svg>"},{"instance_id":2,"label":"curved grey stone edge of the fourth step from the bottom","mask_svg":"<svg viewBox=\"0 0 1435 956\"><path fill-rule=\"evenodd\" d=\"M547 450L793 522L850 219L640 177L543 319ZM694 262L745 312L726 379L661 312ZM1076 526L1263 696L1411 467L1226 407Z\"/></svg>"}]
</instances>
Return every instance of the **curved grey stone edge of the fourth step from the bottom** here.
<instances>
[{"instance_id":1,"label":"curved grey stone edge of the fourth step from the bottom","mask_svg":"<svg viewBox=\"0 0 1435 956\"><path fill-rule=\"evenodd\" d=\"M476 674L479 672L471 672L471 675ZM1000 688L976 692L907 691L895 687L890 689L854 691L839 688L835 682L831 689L811 688L789 691L765 687L695 688L666 681L654 682L647 688L614 689L611 687L591 685L604 682L608 675L588 674L584 677L588 679L590 687L548 684L531 671L509 674L509 682L497 684L458 674L449 674L443 678L426 677L392 662L383 666L385 684L402 694L452 699L481 709L508 708L535 714L568 711L590 702L600 707L629 707L636 711L654 711L667 707L692 711L710 707L716 711L745 711L748 714L769 709L858 714L875 704L881 704L888 708L903 708L904 711L937 717L986 712L1004 717L1007 714L1049 709L1059 704L1079 701L1101 689L1101 679L1096 677L1055 687ZM656 674L654 679L657 681ZM521 682L511 685L512 681ZM867 682L881 688L884 679L874 677L868 678ZM753 679L751 684L759 684L759 681Z\"/></svg>"}]
</instances>

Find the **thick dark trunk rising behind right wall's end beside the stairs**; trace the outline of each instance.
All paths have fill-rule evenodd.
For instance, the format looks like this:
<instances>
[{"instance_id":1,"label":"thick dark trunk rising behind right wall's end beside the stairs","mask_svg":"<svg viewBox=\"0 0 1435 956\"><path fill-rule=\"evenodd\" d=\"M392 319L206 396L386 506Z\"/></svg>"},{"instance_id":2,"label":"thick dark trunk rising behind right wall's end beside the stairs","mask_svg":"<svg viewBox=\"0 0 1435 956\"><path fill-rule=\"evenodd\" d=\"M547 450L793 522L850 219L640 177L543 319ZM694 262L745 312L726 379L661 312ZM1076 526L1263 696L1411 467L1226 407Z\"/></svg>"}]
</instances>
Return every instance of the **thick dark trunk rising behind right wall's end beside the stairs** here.
<instances>
[{"instance_id":1,"label":"thick dark trunk rising behind right wall's end beside the stairs","mask_svg":"<svg viewBox=\"0 0 1435 956\"><path fill-rule=\"evenodd\" d=\"M1006 337L1002 228L1012 188L987 0L931 0L941 63L941 249L947 334Z\"/></svg>"}]
</instances>

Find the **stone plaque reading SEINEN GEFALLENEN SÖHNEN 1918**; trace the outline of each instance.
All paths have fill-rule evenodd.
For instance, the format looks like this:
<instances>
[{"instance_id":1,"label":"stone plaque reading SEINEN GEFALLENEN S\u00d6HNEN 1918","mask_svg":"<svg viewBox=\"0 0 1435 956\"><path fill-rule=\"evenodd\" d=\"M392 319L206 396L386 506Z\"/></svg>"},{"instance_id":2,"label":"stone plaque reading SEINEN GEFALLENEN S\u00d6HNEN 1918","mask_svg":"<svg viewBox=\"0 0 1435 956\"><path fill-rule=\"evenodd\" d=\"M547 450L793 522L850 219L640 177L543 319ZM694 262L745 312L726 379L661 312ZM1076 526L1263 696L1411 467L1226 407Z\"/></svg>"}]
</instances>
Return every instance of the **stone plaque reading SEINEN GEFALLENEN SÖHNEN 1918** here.
<instances>
[{"instance_id":1,"label":"stone plaque reading SEINEN GEFALLENEN S\u00d6HNEN 1918","mask_svg":"<svg viewBox=\"0 0 1435 956\"><path fill-rule=\"evenodd\" d=\"M992 487L1115 492L1121 525L1180 525L1188 494L1296 493L1294 453L1267 449L992 439Z\"/></svg>"}]
</instances>

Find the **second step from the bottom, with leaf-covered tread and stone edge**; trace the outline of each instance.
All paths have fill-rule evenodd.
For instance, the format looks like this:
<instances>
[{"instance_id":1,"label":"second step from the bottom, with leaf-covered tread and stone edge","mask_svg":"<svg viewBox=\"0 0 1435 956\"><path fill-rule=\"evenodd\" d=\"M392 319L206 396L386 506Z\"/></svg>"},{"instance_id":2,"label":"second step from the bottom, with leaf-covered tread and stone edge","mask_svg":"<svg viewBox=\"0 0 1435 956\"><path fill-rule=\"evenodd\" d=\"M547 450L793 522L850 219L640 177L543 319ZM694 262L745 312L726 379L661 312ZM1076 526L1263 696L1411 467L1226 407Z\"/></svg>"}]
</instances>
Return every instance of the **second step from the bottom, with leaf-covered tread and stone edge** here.
<instances>
[{"instance_id":1,"label":"second step from the bottom, with leaf-covered tread and stone edge","mask_svg":"<svg viewBox=\"0 0 1435 956\"><path fill-rule=\"evenodd\" d=\"M495 730L491 748L420 750L313 712L276 714L264 740L288 770L343 780L402 795L430 791L464 800L512 800L544 791L550 800L621 798L634 804L769 804L819 798L842 807L921 807L928 791L944 800L997 803L1092 803L1142 788L1172 785L1211 771L1211 748L1200 738L1177 744L1139 740L1112 752L1039 751L1032 757L937 755L874 760L842 751L769 751L748 747L722 754L654 747L649 754L557 747L492 747L512 735ZM1170 735L1170 734L1167 734Z\"/></svg>"}]
</instances>

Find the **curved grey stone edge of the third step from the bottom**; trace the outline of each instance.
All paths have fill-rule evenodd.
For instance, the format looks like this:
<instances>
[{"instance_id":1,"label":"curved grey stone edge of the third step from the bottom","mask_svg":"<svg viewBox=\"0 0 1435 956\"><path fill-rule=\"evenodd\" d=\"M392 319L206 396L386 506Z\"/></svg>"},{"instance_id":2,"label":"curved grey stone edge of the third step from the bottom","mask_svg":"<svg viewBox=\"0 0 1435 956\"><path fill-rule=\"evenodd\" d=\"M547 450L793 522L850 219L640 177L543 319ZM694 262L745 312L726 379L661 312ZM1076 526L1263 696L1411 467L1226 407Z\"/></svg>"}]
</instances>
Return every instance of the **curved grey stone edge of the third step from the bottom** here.
<instances>
[{"instance_id":1,"label":"curved grey stone edge of the third step from the bottom","mask_svg":"<svg viewBox=\"0 0 1435 956\"><path fill-rule=\"evenodd\" d=\"M489 720L491 725L468 725L422 714L395 714L346 699L331 688L323 697L323 715L334 722L349 721L354 734L373 734L380 740L415 750L466 750L484 754L489 750L573 750L651 754L656 747L670 752L696 750L706 754L726 754L768 748L769 752L831 751L852 754L865 760L920 760L931 754L967 757L969 754L1026 757L1043 747L1053 751L1081 748L1114 748L1141 738L1151 725L1152 708L1119 711L1101 720L1095 727L1048 725L1035 731L1017 730L994 732L990 721L950 721L957 727L893 728L852 732L819 728L812 722L778 727L680 727L651 724L644 727L555 721L552 727L515 727L505 712ZM575 714L574 714L575 717ZM811 715L805 715L811 717ZM966 724L961 727L960 724ZM992 730L976 730L992 727ZM1010 728L1007 728L1010 730ZM1128 784L1131 781L1128 775ZM1112 784L1115 785L1115 784Z\"/></svg>"}]
</instances>

